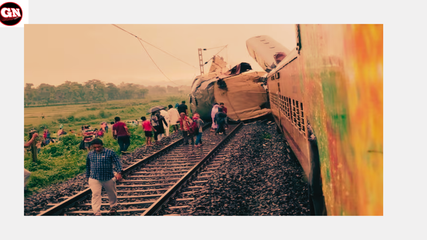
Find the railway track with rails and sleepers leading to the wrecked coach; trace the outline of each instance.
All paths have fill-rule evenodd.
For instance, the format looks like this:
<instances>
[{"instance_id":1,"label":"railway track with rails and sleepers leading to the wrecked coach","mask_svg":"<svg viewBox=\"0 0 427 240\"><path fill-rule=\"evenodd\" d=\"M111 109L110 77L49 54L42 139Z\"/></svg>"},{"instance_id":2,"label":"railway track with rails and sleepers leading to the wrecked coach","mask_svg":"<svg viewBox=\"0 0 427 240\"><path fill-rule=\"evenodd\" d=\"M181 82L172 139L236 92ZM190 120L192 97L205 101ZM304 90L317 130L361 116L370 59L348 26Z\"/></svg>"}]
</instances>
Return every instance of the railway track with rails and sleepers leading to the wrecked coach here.
<instances>
[{"instance_id":1,"label":"railway track with rails and sleepers leading to the wrecked coach","mask_svg":"<svg viewBox=\"0 0 427 240\"><path fill-rule=\"evenodd\" d=\"M200 147L184 145L180 138L124 169L123 180L117 182L117 215L155 215L167 203L167 212L185 208L193 200L192 194L222 163L224 155L215 154L240 126L230 125L227 135L205 130ZM50 208L38 216L92 215L90 196L87 188L62 202L48 204ZM108 209L108 196L103 191L101 214L107 215Z\"/></svg>"}]
</instances>

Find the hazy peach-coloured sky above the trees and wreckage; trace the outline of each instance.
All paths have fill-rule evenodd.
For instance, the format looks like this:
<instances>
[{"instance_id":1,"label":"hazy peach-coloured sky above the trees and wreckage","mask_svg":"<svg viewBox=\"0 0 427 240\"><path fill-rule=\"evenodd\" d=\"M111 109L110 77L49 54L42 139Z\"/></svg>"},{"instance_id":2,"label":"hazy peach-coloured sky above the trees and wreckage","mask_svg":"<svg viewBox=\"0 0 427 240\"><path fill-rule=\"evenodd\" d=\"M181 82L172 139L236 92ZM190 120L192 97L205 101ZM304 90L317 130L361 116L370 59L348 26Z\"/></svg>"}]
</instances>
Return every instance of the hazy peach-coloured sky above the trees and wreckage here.
<instances>
[{"instance_id":1,"label":"hazy peach-coloured sky above the trees and wreckage","mask_svg":"<svg viewBox=\"0 0 427 240\"><path fill-rule=\"evenodd\" d=\"M246 40L269 35L295 47L293 24L117 24L128 32L188 63L141 41L111 24L29 24L24 28L24 84L60 85L65 81L132 82L178 86L200 74L198 48L228 45L219 53L229 65L240 62L262 69L249 56ZM203 51L208 61L221 48ZM211 65L205 65L205 73ZM190 66L190 65L191 66ZM174 84L174 82L176 84Z\"/></svg>"}]
</instances>

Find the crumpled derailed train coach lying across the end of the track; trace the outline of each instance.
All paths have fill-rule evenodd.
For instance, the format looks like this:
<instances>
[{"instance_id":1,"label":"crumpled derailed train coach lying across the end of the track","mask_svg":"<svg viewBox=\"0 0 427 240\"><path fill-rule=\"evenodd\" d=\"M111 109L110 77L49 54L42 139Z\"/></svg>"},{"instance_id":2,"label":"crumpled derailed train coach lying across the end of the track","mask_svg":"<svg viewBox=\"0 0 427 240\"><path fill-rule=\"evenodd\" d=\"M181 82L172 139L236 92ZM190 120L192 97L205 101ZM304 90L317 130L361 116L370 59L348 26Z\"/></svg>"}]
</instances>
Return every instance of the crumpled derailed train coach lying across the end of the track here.
<instances>
[{"instance_id":1,"label":"crumpled derailed train coach lying across the end of the track","mask_svg":"<svg viewBox=\"0 0 427 240\"><path fill-rule=\"evenodd\" d=\"M220 56L214 56L209 72L193 80L191 111L211 121L213 104L223 102L230 120L243 121L270 114L263 87L266 73L251 71L250 64L244 62L229 70L226 65Z\"/></svg>"}]
</instances>

